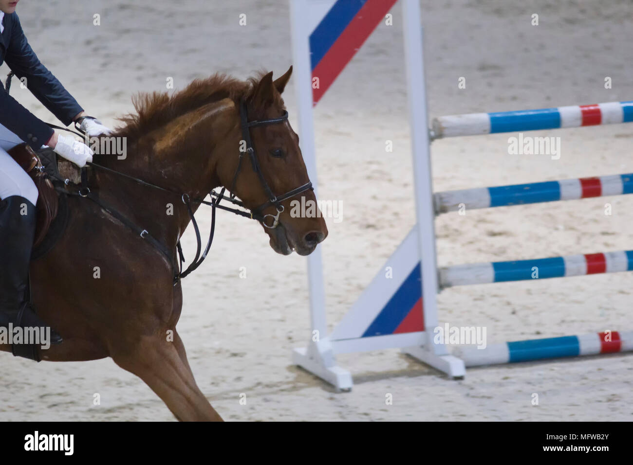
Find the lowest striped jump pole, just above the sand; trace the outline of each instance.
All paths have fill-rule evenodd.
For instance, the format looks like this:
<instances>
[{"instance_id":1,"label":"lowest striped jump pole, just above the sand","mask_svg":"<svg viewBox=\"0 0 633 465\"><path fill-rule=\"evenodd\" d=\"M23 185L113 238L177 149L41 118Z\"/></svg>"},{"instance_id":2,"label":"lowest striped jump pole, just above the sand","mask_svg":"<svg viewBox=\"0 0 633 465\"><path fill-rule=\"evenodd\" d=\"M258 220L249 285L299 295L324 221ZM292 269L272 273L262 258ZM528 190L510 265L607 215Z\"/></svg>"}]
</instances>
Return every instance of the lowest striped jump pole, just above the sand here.
<instances>
[{"instance_id":1,"label":"lowest striped jump pole, just above the sand","mask_svg":"<svg viewBox=\"0 0 633 465\"><path fill-rule=\"evenodd\" d=\"M454 355L466 366L527 362L561 357L578 357L633 350L633 332L591 333L579 336L529 339L488 345L458 347Z\"/></svg>"}]
</instances>

